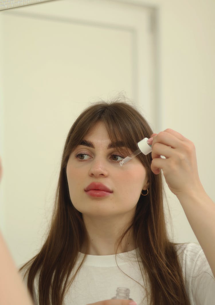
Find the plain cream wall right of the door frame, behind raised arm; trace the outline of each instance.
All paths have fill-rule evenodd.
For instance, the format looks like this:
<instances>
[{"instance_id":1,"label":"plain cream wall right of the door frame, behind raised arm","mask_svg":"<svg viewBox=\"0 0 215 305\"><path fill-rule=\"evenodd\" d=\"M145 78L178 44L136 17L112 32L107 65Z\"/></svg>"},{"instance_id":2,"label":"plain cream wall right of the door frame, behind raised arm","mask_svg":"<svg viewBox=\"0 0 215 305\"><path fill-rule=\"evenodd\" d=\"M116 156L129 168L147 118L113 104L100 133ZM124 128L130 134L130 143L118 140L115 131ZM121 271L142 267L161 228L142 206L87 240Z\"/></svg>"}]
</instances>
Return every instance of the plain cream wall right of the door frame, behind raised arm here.
<instances>
[{"instance_id":1,"label":"plain cream wall right of the door frame, behind raised arm","mask_svg":"<svg viewBox=\"0 0 215 305\"><path fill-rule=\"evenodd\" d=\"M161 127L196 146L199 176L215 201L215 1L139 1L158 8ZM175 238L196 241L184 212L168 193Z\"/></svg>"}]
</instances>

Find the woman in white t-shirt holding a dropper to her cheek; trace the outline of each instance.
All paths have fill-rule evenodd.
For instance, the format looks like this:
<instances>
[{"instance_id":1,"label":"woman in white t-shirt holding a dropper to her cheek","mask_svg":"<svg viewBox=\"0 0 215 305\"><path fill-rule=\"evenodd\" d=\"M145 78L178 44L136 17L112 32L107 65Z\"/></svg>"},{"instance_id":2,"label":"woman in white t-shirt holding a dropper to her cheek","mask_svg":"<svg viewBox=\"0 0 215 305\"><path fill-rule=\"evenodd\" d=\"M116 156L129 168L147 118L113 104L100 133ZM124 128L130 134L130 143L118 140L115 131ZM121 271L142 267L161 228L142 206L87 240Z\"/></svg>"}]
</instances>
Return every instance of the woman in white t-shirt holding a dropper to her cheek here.
<instances>
[{"instance_id":1,"label":"woman in white t-shirt holding a dropper to her cheek","mask_svg":"<svg viewBox=\"0 0 215 305\"><path fill-rule=\"evenodd\" d=\"M152 153L120 167L144 137ZM207 260L199 246L168 240L160 169ZM192 142L171 129L153 134L126 103L100 102L69 131L50 231L22 272L39 305L212 304L214 220Z\"/></svg>"}]
</instances>

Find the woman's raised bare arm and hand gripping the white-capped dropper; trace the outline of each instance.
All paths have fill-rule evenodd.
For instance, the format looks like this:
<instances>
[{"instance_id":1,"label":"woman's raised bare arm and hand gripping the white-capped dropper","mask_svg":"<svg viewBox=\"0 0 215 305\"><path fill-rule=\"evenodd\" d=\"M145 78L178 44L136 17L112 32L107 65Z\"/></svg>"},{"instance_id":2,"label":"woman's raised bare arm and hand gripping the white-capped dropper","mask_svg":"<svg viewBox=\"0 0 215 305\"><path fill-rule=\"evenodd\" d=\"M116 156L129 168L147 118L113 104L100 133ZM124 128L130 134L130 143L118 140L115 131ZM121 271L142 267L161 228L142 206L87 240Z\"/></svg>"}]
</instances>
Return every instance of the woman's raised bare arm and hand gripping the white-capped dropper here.
<instances>
[{"instance_id":1,"label":"woman's raised bare arm and hand gripping the white-capped dropper","mask_svg":"<svg viewBox=\"0 0 215 305\"><path fill-rule=\"evenodd\" d=\"M172 129L152 137L151 170L158 174L162 169L166 183L179 199L215 277L215 204L200 182L195 146Z\"/></svg>"}]
</instances>

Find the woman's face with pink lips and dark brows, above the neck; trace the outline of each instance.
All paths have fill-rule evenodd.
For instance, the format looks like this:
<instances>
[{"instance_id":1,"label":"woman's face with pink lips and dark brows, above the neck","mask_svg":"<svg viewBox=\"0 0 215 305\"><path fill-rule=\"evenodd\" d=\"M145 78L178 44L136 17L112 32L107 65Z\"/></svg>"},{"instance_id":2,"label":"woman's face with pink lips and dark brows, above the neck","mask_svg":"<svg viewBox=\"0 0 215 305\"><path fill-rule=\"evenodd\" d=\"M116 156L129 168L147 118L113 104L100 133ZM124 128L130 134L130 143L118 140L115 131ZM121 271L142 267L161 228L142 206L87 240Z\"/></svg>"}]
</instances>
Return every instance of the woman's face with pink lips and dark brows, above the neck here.
<instances>
[{"instance_id":1,"label":"woman's face with pink lips and dark brows, above the neck","mask_svg":"<svg viewBox=\"0 0 215 305\"><path fill-rule=\"evenodd\" d=\"M69 157L70 198L83 215L132 217L141 190L147 188L146 170L140 160L134 158L121 167L119 161L128 155L128 149L122 156L115 146L104 124L98 122Z\"/></svg>"}]
</instances>

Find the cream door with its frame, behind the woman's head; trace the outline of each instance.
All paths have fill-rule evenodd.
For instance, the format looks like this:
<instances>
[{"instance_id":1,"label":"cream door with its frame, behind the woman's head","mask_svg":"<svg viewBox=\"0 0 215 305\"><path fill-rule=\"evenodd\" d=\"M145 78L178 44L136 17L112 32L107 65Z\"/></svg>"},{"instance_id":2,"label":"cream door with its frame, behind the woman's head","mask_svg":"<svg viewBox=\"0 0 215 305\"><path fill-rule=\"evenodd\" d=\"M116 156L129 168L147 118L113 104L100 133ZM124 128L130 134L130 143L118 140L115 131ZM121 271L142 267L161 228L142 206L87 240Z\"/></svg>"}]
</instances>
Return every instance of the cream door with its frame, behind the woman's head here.
<instances>
[{"instance_id":1,"label":"cream door with its frame, behind the woman's head","mask_svg":"<svg viewBox=\"0 0 215 305\"><path fill-rule=\"evenodd\" d=\"M153 13L100 0L1 12L1 223L17 265L41 245L67 132L82 109L123 92L156 129Z\"/></svg>"}]
</instances>

